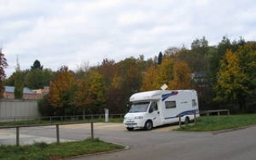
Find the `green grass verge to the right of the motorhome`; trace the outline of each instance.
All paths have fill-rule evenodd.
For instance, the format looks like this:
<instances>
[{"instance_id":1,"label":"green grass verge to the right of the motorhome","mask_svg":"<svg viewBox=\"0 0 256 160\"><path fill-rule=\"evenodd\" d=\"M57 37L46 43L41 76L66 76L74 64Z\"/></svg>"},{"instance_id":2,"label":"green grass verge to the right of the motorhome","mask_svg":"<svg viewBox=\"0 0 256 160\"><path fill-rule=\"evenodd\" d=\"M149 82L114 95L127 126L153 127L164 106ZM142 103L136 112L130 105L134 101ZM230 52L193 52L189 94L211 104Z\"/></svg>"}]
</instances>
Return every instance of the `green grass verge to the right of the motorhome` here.
<instances>
[{"instance_id":1,"label":"green grass verge to the right of the motorhome","mask_svg":"<svg viewBox=\"0 0 256 160\"><path fill-rule=\"evenodd\" d=\"M256 125L256 114L201 116L195 124L188 124L177 129L180 131L217 131L236 129Z\"/></svg>"}]
</instances>

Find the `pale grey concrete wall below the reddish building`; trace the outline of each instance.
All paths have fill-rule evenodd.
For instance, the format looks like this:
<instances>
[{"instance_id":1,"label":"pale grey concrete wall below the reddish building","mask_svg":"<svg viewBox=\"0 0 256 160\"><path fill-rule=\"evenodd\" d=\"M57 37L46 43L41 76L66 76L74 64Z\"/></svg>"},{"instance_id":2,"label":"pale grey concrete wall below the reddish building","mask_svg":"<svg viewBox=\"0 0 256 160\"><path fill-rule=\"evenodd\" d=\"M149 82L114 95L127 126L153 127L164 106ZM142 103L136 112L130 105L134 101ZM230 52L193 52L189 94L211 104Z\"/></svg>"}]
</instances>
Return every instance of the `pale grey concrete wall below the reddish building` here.
<instances>
[{"instance_id":1,"label":"pale grey concrete wall below the reddish building","mask_svg":"<svg viewBox=\"0 0 256 160\"><path fill-rule=\"evenodd\" d=\"M14 121L14 118L39 116L38 102L35 100L0 100L0 122Z\"/></svg>"}]
</instances>

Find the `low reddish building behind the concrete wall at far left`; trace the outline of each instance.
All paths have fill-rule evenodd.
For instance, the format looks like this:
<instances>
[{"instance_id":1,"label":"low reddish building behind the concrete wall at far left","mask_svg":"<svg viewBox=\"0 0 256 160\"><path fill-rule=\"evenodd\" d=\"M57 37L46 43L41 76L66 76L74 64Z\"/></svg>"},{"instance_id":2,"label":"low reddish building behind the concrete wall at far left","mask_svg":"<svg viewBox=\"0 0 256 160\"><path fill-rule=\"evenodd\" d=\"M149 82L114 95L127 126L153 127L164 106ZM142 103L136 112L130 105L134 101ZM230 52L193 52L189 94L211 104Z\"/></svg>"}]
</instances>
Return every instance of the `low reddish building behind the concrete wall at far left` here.
<instances>
[{"instance_id":1,"label":"low reddish building behind the concrete wall at far left","mask_svg":"<svg viewBox=\"0 0 256 160\"><path fill-rule=\"evenodd\" d=\"M14 99L14 86L5 86L3 92L3 98ZM23 99L41 99L42 94L38 94L36 91L30 90L27 87L23 88Z\"/></svg>"}]
</instances>

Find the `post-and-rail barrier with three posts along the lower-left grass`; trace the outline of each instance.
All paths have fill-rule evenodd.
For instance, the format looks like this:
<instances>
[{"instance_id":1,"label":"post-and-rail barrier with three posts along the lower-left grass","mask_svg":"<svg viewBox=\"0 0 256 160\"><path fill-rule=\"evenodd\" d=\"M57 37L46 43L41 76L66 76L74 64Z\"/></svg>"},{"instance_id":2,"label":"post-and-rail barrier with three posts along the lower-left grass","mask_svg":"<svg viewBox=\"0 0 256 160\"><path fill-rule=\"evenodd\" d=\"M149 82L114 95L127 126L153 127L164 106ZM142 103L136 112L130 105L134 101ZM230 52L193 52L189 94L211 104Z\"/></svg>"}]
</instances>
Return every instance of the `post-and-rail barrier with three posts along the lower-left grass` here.
<instances>
[{"instance_id":1,"label":"post-and-rail barrier with three posts along the lower-left grass","mask_svg":"<svg viewBox=\"0 0 256 160\"><path fill-rule=\"evenodd\" d=\"M16 128L16 146L19 146L19 129L24 127L37 127L37 126L56 126L56 142L59 143L59 126L60 125L72 125L90 123L90 136L94 139L94 122L62 122L62 123L51 123L51 124L38 124L38 125L18 125L18 126L0 126L0 129Z\"/></svg>"}]
</instances>

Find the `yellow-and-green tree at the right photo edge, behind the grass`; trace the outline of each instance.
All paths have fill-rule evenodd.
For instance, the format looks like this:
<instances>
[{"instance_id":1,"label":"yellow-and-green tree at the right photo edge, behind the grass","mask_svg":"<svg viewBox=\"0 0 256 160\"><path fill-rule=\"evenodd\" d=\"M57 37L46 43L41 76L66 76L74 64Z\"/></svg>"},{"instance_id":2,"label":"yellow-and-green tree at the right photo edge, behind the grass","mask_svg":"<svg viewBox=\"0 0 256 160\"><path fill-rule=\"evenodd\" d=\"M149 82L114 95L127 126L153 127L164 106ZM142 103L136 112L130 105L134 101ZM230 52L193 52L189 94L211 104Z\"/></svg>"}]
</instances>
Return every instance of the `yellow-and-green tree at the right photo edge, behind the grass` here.
<instances>
[{"instance_id":1,"label":"yellow-and-green tree at the right photo edge, behind the grass","mask_svg":"<svg viewBox=\"0 0 256 160\"><path fill-rule=\"evenodd\" d=\"M218 72L218 82L214 87L215 101L238 102L240 110L246 109L246 98L255 89L256 52L248 46L241 46L233 53L226 51Z\"/></svg>"}]
</instances>

